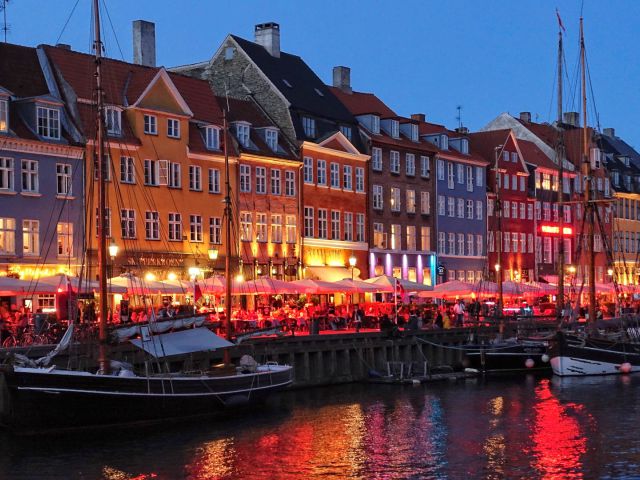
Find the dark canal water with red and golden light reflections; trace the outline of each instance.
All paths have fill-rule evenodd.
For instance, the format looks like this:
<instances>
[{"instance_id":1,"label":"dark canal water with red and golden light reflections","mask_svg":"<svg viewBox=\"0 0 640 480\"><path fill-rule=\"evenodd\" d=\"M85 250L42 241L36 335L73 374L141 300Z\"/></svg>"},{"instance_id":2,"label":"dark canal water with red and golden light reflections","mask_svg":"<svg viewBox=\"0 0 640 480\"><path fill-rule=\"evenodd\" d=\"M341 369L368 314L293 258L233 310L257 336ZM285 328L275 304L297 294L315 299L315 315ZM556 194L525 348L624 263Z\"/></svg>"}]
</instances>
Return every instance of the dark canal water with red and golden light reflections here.
<instances>
[{"instance_id":1,"label":"dark canal water with red and golden light reflections","mask_svg":"<svg viewBox=\"0 0 640 480\"><path fill-rule=\"evenodd\" d=\"M0 479L640 478L640 376L292 391L239 415L29 439Z\"/></svg>"}]
</instances>

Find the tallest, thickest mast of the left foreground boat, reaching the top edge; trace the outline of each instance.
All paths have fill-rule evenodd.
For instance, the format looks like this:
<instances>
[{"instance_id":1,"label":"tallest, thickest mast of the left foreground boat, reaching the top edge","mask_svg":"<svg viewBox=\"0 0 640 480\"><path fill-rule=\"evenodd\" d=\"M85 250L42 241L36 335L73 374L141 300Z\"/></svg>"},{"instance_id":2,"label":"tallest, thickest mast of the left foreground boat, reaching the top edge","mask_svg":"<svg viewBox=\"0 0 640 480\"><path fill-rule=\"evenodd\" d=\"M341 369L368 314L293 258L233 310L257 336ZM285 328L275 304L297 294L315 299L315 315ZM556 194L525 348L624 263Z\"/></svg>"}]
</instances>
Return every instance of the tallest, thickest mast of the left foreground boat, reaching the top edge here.
<instances>
[{"instance_id":1,"label":"tallest, thickest mast of the left foreground boat, reaching the top edge","mask_svg":"<svg viewBox=\"0 0 640 480\"><path fill-rule=\"evenodd\" d=\"M99 356L100 372L109 373L109 360L107 358L107 235L105 232L106 218L106 185L105 177L107 165L104 155L104 99L102 91L101 63L102 41L100 40L100 6L98 0L93 0L93 29L95 32L93 50L95 53L95 77L96 77L96 143L95 154L98 168L98 278L100 294L100 331L99 331Z\"/></svg>"}]
</instances>

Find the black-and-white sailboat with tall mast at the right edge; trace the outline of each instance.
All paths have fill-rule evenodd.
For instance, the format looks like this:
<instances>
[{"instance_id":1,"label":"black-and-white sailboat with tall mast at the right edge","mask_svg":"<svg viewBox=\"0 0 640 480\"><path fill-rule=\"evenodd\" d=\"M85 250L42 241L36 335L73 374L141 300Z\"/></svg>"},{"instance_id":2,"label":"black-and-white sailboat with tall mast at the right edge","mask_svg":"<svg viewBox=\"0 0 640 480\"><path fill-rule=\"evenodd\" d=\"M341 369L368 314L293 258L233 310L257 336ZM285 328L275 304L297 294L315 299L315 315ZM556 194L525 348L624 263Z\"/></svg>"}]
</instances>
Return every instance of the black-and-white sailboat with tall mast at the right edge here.
<instances>
[{"instance_id":1,"label":"black-and-white sailboat with tall mast at the right edge","mask_svg":"<svg viewBox=\"0 0 640 480\"><path fill-rule=\"evenodd\" d=\"M587 130L587 100L585 73L585 44L583 19L580 19L580 60L582 72L582 175L587 179L584 188L584 210L587 233L587 256L589 272L589 309L585 331L560 330L550 341L549 357L553 373L559 376L609 375L640 370L640 337L637 322L625 325L614 334L601 334L596 322L596 285L594 229L599 223L597 201L592 185L594 165L589 158ZM562 278L562 275L560 276Z\"/></svg>"}]
</instances>

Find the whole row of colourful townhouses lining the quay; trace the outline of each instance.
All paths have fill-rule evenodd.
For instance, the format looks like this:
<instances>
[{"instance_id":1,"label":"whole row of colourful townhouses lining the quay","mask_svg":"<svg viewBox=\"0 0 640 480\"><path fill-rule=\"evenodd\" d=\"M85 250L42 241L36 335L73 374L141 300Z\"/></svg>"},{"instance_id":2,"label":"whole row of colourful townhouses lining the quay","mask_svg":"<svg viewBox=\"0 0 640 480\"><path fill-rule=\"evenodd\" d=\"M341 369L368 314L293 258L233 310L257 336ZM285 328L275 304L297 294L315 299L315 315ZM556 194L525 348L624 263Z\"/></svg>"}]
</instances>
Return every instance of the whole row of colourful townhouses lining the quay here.
<instances>
[{"instance_id":1,"label":"whole row of colourful townhouses lining the quay","mask_svg":"<svg viewBox=\"0 0 640 480\"><path fill-rule=\"evenodd\" d=\"M551 125L505 113L480 132L450 130L354 91L347 67L325 84L281 51L276 23L171 69L147 55L154 29L134 28L137 63L103 61L111 274L211 273L229 255L247 278L554 281L561 242L567 272L586 274L577 114ZM95 266L94 59L66 46L0 54L2 271L76 273L85 251ZM589 130L589 156L602 200L596 280L636 282L640 157L611 130Z\"/></svg>"}]
</instances>

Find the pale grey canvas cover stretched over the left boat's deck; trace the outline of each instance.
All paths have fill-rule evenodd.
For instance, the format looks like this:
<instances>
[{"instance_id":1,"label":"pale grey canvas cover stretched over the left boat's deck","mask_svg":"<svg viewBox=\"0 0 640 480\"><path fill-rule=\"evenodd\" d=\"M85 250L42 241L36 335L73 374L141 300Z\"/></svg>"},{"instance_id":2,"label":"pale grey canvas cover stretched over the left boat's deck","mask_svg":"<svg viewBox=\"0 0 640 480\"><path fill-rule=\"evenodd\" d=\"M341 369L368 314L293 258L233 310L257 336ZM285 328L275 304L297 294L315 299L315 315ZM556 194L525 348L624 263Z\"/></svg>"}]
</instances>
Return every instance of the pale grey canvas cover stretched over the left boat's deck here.
<instances>
[{"instance_id":1,"label":"pale grey canvas cover stretched over the left boat's deck","mask_svg":"<svg viewBox=\"0 0 640 480\"><path fill-rule=\"evenodd\" d=\"M141 338L130 340L130 342L155 358L208 352L233 346L233 343L219 337L207 328L192 328L161 335L149 335L148 331L143 331Z\"/></svg>"}]
</instances>

